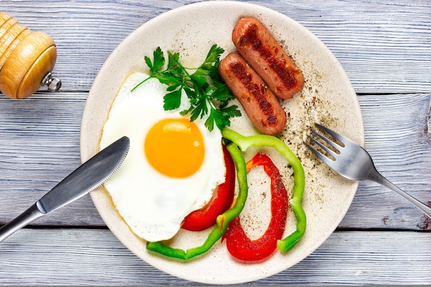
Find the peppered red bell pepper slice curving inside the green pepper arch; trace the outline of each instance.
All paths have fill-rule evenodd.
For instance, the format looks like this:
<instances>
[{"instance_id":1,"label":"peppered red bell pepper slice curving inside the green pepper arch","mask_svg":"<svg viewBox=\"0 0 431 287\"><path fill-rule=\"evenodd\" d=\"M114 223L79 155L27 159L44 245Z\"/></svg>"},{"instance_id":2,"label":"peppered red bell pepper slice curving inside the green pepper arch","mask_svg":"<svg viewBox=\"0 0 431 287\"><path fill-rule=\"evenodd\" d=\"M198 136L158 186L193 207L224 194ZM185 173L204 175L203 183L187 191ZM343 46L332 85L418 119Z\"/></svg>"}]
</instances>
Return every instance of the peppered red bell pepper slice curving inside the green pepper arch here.
<instances>
[{"instance_id":1,"label":"peppered red bell pepper slice curving inside the green pepper arch","mask_svg":"<svg viewBox=\"0 0 431 287\"><path fill-rule=\"evenodd\" d=\"M247 172L258 165L264 167L265 173L271 178L271 221L265 233L257 240L251 240L240 224L240 217L235 217L224 233L227 249L237 259L257 261L269 257L277 248L277 240L281 240L286 226L288 193L275 164L269 156L257 153L247 162Z\"/></svg>"}]
</instances>

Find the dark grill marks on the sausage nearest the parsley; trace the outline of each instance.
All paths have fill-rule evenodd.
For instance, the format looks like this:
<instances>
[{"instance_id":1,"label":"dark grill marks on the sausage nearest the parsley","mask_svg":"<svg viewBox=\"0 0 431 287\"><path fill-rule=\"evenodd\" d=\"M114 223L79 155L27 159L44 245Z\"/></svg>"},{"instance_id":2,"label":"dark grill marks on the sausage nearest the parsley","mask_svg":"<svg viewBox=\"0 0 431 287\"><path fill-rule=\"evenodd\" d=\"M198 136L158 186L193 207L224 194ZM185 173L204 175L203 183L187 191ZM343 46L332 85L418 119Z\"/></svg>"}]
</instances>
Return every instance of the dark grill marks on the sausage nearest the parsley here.
<instances>
[{"instance_id":1,"label":"dark grill marks on the sausage nearest the parsley","mask_svg":"<svg viewBox=\"0 0 431 287\"><path fill-rule=\"evenodd\" d=\"M235 78L242 83L249 91L249 94L253 96L256 100L257 105L260 107L260 110L265 115L266 120L270 125L277 124L277 116L275 115L275 111L273 110L273 106L271 103L266 100L266 96L264 96L268 92L268 87L265 85L257 85L252 81L251 74L246 71L244 65L238 62L230 63L229 65L232 73L235 75ZM242 98L242 100L246 100L251 103L250 98ZM264 123L262 123L264 124Z\"/></svg>"}]
</instances>

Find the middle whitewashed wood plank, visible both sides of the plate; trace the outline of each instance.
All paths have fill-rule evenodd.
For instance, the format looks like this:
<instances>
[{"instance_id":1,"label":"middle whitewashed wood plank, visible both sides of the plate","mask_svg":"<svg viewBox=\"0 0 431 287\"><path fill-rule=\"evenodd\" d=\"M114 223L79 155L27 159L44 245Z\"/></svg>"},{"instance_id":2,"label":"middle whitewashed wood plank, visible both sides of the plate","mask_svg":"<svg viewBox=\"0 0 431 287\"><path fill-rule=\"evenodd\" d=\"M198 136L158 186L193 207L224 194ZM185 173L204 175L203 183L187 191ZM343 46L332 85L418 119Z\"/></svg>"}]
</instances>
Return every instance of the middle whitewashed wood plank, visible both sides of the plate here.
<instances>
[{"instance_id":1,"label":"middle whitewashed wood plank, visible both sides of the plate","mask_svg":"<svg viewBox=\"0 0 431 287\"><path fill-rule=\"evenodd\" d=\"M359 96L366 148L377 168L425 203L431 201L430 99L430 94ZM85 93L38 94L20 102L0 98L0 222L12 220L78 166L84 103ZM90 197L34 224L105 226ZM340 228L430 230L431 224L393 191L361 182Z\"/></svg>"}]
</instances>

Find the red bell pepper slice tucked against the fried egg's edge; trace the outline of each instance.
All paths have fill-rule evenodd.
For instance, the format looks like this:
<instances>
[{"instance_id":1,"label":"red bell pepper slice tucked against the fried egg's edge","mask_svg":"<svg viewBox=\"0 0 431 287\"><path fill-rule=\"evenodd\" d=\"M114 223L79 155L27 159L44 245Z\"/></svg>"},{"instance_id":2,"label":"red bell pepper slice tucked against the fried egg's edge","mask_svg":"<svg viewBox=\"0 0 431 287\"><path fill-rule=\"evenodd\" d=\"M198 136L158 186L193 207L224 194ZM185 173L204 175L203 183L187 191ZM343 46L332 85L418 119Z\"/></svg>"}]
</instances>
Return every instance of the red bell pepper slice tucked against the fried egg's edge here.
<instances>
[{"instance_id":1,"label":"red bell pepper slice tucked against the fried egg's edge","mask_svg":"<svg viewBox=\"0 0 431 287\"><path fill-rule=\"evenodd\" d=\"M223 145L224 164L226 165L226 180L219 184L213 197L202 209L193 211L182 222L181 228L189 231L203 231L215 224L218 215L227 211L235 195L235 166L231 153Z\"/></svg>"}]
</instances>

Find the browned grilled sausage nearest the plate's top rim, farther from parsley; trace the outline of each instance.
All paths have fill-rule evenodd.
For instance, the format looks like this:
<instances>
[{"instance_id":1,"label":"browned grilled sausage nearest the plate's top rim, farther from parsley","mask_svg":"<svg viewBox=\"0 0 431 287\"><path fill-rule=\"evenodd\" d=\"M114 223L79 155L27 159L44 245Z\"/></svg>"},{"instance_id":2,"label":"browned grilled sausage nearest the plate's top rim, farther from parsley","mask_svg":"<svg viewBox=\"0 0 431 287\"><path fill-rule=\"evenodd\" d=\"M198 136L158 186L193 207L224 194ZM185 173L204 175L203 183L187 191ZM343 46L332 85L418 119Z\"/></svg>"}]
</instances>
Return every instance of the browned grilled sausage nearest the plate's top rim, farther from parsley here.
<instances>
[{"instance_id":1,"label":"browned grilled sausage nearest the plate's top rim, farther from parsley","mask_svg":"<svg viewBox=\"0 0 431 287\"><path fill-rule=\"evenodd\" d=\"M240 18L233 29L232 41L276 96L286 100L302 90L301 70L260 21Z\"/></svg>"}]
</instances>

